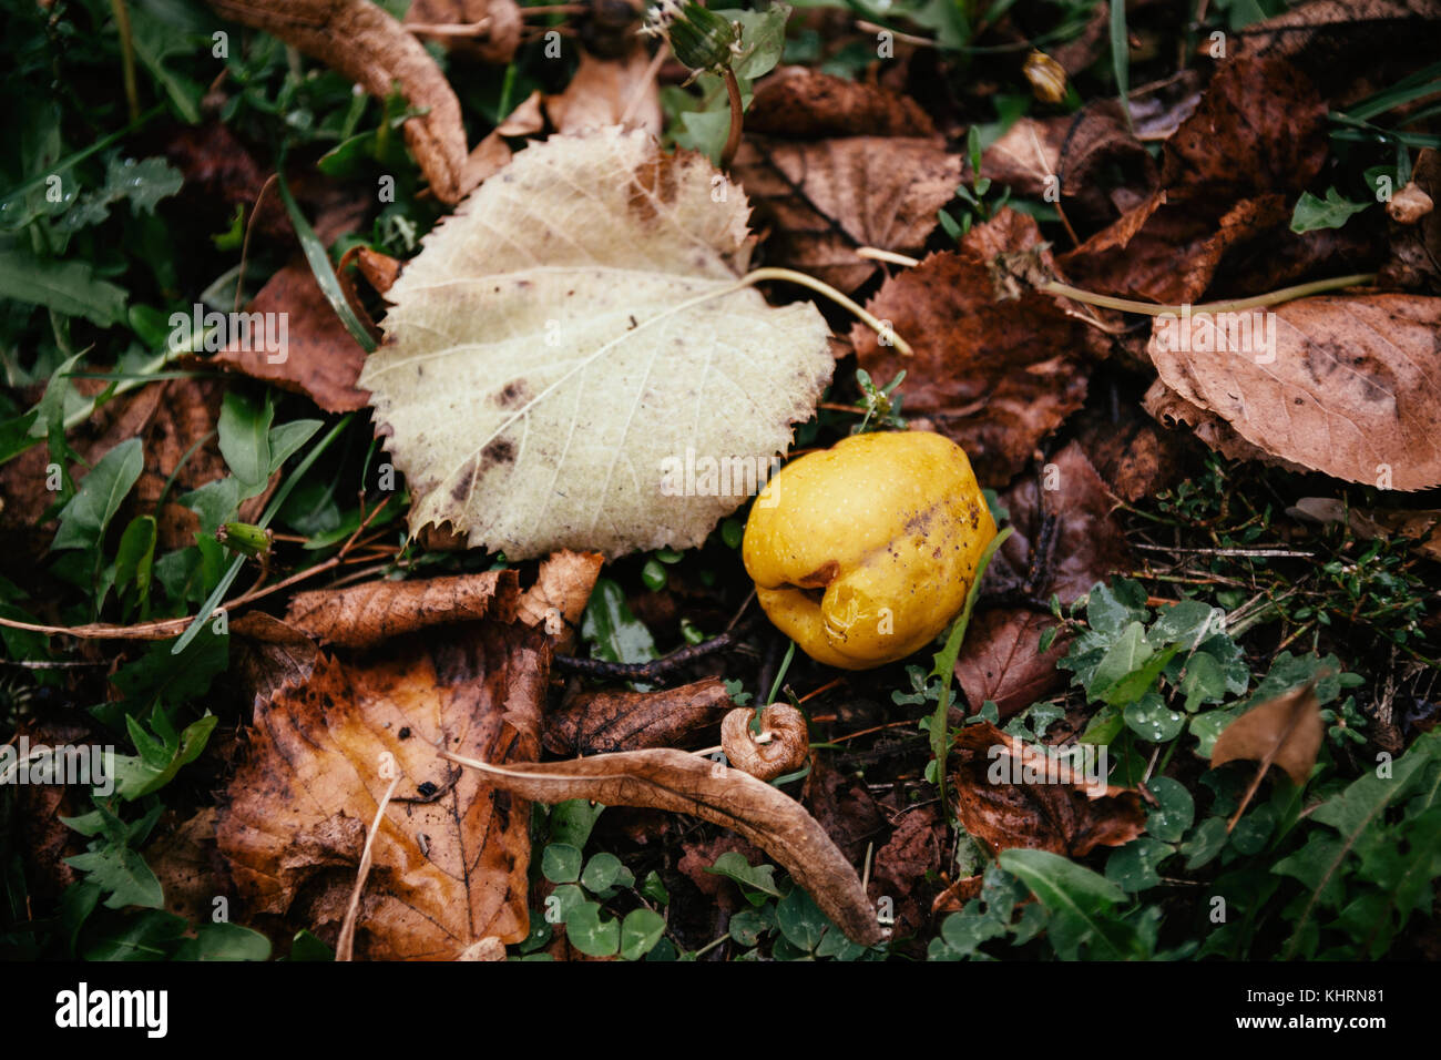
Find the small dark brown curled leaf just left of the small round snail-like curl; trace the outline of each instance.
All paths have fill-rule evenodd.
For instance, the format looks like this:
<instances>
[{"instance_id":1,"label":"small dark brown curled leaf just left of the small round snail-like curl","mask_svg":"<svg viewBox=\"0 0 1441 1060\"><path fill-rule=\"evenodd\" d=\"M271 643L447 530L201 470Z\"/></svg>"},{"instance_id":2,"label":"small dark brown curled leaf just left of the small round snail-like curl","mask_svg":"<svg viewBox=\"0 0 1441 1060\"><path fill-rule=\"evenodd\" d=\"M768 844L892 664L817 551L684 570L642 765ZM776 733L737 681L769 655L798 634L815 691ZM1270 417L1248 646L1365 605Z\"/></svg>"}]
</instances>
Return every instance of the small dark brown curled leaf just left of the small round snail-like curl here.
<instances>
[{"instance_id":1,"label":"small dark brown curled leaf just left of the small round snail-like curl","mask_svg":"<svg viewBox=\"0 0 1441 1060\"><path fill-rule=\"evenodd\" d=\"M608 754L673 747L731 710L719 678L659 692L581 692L546 714L542 741L552 754Z\"/></svg>"}]
</instances>

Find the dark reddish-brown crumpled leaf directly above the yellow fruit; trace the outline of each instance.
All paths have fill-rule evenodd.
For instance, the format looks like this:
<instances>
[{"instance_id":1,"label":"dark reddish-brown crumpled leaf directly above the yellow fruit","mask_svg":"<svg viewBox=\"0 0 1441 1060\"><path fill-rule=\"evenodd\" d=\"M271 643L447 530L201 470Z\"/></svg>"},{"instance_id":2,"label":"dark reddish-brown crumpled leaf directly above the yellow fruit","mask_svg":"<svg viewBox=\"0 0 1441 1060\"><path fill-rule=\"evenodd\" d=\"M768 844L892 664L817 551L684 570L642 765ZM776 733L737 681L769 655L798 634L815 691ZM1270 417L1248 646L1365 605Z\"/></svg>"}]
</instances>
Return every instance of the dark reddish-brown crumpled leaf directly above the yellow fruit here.
<instances>
[{"instance_id":1,"label":"dark reddish-brown crumpled leaf directly above the yellow fruit","mask_svg":"<svg viewBox=\"0 0 1441 1060\"><path fill-rule=\"evenodd\" d=\"M906 336L911 358L869 329L850 332L872 379L885 384L905 371L906 412L957 441L984 486L1010 482L1085 397L1085 324L1032 290L996 300L991 258L1038 251L1049 262L1039 244L1036 222L1004 209L967 232L958 251L886 280L866 309Z\"/></svg>"}]
</instances>

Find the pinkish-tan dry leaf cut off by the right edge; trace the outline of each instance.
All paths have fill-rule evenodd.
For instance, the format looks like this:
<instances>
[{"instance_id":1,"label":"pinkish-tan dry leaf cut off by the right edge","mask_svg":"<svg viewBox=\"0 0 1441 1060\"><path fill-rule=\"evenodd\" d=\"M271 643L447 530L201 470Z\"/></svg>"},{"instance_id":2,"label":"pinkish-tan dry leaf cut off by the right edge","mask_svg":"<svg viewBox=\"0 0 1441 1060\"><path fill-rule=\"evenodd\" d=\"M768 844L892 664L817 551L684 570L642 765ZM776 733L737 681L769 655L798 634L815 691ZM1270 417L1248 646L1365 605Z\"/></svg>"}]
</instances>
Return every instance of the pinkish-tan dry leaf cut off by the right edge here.
<instances>
[{"instance_id":1,"label":"pinkish-tan dry leaf cut off by the right edge","mask_svg":"<svg viewBox=\"0 0 1441 1060\"><path fill-rule=\"evenodd\" d=\"M1196 316L1189 329L1157 319L1147 352L1166 388L1245 443L1347 482L1414 490L1441 483L1438 330L1441 299L1317 296Z\"/></svg>"}]
</instances>

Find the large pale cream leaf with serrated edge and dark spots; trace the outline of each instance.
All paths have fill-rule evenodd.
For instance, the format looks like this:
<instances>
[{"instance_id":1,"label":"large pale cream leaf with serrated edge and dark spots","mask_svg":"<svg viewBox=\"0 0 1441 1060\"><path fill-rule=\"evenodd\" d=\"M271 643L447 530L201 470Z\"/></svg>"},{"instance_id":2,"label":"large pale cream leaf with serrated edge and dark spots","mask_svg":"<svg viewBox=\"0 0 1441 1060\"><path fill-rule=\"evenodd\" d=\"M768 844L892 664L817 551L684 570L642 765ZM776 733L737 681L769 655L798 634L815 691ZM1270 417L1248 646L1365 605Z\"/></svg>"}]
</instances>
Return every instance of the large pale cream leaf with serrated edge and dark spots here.
<instances>
[{"instance_id":1,"label":"large pale cream leaf with serrated edge and dark spots","mask_svg":"<svg viewBox=\"0 0 1441 1060\"><path fill-rule=\"evenodd\" d=\"M552 137L427 238L362 375L412 529L614 557L697 545L745 500L676 469L768 466L833 362L814 306L736 287L748 206L718 176L640 131Z\"/></svg>"}]
</instances>

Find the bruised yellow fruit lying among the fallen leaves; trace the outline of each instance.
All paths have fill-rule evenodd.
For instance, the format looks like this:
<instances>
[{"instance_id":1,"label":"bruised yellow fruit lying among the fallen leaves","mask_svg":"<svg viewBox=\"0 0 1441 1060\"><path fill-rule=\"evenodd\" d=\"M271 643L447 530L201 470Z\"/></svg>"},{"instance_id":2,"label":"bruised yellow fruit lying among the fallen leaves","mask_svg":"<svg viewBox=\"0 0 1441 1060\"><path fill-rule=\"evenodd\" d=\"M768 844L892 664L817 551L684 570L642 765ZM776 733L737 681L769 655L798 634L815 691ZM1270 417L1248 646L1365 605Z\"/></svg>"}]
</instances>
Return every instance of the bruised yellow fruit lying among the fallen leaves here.
<instances>
[{"instance_id":1,"label":"bruised yellow fruit lying among the fallen leaves","mask_svg":"<svg viewBox=\"0 0 1441 1060\"><path fill-rule=\"evenodd\" d=\"M761 607L801 650L870 669L945 629L993 536L965 451L888 431L781 469L751 509L742 558Z\"/></svg>"}]
</instances>

